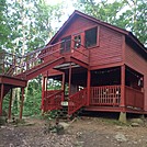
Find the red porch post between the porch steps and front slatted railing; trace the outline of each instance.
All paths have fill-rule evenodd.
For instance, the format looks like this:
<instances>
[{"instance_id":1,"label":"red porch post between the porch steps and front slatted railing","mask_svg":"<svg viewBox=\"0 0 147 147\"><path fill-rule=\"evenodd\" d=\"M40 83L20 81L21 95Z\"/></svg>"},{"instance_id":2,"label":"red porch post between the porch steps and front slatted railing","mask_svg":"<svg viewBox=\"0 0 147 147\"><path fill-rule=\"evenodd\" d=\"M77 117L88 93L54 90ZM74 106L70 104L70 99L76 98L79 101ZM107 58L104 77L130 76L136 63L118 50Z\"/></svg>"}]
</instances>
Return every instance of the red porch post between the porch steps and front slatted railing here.
<instances>
[{"instance_id":1,"label":"red porch post between the porch steps and front slatted railing","mask_svg":"<svg viewBox=\"0 0 147 147\"><path fill-rule=\"evenodd\" d=\"M88 70L88 77L87 77L87 90L88 90L88 98L87 98L87 105L90 105L90 82L91 82L91 72Z\"/></svg>"}]
</instances>

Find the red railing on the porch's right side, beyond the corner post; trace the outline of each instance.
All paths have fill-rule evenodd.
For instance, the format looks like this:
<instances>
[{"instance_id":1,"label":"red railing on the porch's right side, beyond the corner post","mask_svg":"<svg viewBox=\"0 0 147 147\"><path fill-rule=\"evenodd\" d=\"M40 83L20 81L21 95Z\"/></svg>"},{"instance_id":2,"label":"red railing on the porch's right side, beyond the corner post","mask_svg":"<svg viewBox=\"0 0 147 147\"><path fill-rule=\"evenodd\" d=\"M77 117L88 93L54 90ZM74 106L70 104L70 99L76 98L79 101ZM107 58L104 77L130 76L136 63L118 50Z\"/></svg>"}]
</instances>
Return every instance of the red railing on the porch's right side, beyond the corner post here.
<instances>
[{"instance_id":1,"label":"red railing on the porch's right side, beyond the corner post","mask_svg":"<svg viewBox=\"0 0 147 147\"><path fill-rule=\"evenodd\" d=\"M144 92L125 87L125 105L131 109L144 109Z\"/></svg>"}]
</instances>

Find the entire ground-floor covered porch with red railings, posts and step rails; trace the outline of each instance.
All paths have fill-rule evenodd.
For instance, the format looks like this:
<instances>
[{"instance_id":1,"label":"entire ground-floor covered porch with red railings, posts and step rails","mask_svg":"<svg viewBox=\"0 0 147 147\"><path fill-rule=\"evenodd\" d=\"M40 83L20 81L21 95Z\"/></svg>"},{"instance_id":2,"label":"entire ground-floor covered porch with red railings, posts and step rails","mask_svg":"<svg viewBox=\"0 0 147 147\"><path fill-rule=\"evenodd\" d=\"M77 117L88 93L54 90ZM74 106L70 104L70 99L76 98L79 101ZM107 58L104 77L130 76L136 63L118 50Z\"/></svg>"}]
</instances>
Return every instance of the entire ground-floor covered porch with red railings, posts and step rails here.
<instances>
[{"instance_id":1,"label":"entire ground-floor covered porch with red railings, posts and step rails","mask_svg":"<svg viewBox=\"0 0 147 147\"><path fill-rule=\"evenodd\" d=\"M144 111L144 76L127 66L91 71L69 67L63 75L52 78L60 86L49 90L44 78L42 106L46 104L47 110L61 109L61 103L67 102L69 114L80 108L108 112Z\"/></svg>"}]
</instances>

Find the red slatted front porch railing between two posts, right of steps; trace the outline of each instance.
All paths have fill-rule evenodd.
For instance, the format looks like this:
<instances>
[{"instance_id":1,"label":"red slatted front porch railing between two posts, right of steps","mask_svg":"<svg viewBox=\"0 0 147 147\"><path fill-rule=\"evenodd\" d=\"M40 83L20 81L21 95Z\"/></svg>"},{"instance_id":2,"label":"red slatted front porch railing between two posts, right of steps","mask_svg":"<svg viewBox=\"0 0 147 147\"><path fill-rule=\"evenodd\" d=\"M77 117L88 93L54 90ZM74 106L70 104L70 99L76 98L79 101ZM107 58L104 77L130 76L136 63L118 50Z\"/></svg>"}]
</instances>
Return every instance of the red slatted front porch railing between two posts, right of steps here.
<instances>
[{"instance_id":1,"label":"red slatted front porch railing between two posts, right of steps","mask_svg":"<svg viewBox=\"0 0 147 147\"><path fill-rule=\"evenodd\" d=\"M118 106L121 86L91 87L91 105Z\"/></svg>"}]
</instances>

